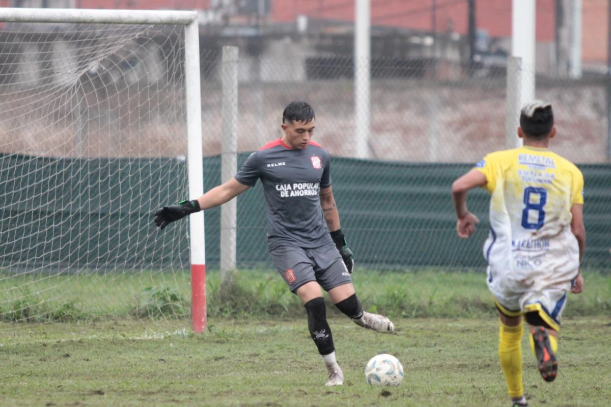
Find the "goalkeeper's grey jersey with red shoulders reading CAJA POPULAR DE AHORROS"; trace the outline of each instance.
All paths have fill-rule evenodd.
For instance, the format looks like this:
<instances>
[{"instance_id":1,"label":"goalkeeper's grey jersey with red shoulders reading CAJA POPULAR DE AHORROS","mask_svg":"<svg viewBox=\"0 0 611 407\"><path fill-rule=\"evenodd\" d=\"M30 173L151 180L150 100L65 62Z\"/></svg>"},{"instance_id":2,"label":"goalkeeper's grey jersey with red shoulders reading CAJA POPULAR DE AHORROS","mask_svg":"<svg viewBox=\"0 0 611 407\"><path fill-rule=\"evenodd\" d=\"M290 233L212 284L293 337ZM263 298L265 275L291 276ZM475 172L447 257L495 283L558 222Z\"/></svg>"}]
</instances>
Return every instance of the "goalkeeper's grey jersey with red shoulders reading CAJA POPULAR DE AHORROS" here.
<instances>
[{"instance_id":1,"label":"goalkeeper's grey jersey with red shoulders reading CAJA POPULAR DE AHORROS","mask_svg":"<svg viewBox=\"0 0 611 407\"><path fill-rule=\"evenodd\" d=\"M331 186L329 153L310 141L291 150L281 139L249 156L235 179L255 186L261 178L268 214L268 246L318 248L332 243L320 207L320 188Z\"/></svg>"}]
</instances>

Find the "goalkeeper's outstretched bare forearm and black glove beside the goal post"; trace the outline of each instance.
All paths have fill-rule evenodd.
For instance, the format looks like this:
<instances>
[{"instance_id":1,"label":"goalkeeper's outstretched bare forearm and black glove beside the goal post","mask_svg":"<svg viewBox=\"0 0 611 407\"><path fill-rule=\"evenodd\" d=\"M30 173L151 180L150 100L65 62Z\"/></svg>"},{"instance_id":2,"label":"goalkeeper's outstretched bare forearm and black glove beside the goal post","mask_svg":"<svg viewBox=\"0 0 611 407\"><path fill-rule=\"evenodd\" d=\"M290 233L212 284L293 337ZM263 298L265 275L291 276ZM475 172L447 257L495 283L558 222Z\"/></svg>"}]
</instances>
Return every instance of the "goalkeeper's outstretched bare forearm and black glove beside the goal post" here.
<instances>
[{"instance_id":1,"label":"goalkeeper's outstretched bare forearm and black glove beside the goal post","mask_svg":"<svg viewBox=\"0 0 611 407\"><path fill-rule=\"evenodd\" d=\"M164 229L171 222L178 221L192 213L218 207L218 205L232 200L248 188L248 185L231 178L224 184L210 189L197 199L181 201L178 202L178 205L169 205L159 209L155 212L155 224L159 229Z\"/></svg>"}]
</instances>

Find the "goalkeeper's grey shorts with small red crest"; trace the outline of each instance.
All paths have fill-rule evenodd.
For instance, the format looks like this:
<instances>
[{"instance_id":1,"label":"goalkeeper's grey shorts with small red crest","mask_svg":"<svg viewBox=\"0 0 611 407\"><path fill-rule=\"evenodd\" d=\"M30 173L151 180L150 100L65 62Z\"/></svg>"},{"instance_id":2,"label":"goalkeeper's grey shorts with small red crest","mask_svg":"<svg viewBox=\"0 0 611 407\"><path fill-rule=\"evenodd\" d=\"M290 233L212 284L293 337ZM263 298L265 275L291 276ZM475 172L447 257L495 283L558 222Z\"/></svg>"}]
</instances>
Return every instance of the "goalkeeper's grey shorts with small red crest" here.
<instances>
[{"instance_id":1,"label":"goalkeeper's grey shorts with small red crest","mask_svg":"<svg viewBox=\"0 0 611 407\"><path fill-rule=\"evenodd\" d=\"M314 249L279 246L269 253L293 293L310 281L318 282L325 291L352 282L335 243Z\"/></svg>"}]
</instances>

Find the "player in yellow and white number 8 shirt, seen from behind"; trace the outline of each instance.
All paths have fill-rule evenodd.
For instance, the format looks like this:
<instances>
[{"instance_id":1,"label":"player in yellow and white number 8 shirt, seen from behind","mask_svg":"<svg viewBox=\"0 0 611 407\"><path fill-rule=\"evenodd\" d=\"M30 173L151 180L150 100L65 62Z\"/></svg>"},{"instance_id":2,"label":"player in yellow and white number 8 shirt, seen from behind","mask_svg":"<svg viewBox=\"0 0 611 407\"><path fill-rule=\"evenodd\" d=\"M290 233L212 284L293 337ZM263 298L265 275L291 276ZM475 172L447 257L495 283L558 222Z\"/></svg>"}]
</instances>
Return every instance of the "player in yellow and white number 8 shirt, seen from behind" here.
<instances>
[{"instance_id":1,"label":"player in yellow and white number 8 shirt, seen from behind","mask_svg":"<svg viewBox=\"0 0 611 407\"><path fill-rule=\"evenodd\" d=\"M452 185L456 232L468 238L478 219L467 210L467 191L491 194L490 226L483 252L488 288L500 316L499 359L513 406L527 406L522 384L522 317L546 381L556 377L557 335L566 292L580 293L585 248L584 177L570 161L547 149L556 135L552 106L522 108L519 149L486 155Z\"/></svg>"}]
</instances>

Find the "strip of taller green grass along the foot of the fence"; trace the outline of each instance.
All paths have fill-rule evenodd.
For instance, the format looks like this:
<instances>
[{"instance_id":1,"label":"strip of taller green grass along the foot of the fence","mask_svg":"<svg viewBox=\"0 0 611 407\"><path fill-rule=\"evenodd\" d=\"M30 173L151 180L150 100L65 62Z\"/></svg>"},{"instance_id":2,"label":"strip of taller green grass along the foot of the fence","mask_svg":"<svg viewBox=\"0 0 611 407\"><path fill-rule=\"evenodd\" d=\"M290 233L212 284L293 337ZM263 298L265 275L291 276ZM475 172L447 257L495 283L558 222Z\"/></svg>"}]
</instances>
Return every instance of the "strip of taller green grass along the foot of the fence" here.
<instances>
[{"instance_id":1,"label":"strip of taller green grass along the foot of the fence","mask_svg":"<svg viewBox=\"0 0 611 407\"><path fill-rule=\"evenodd\" d=\"M585 272L585 293L571 296L567 316L611 314L611 275ZM480 318L494 315L483 272L357 270L363 305L393 318ZM189 273L79 273L11 276L0 273L0 321L100 321L188 318ZM276 271L246 270L230 288L207 275L208 315L230 318L302 317L304 310ZM339 315L339 314L337 314ZM0 329L0 333L2 329Z\"/></svg>"}]
</instances>

